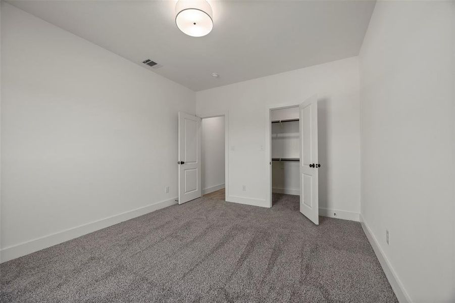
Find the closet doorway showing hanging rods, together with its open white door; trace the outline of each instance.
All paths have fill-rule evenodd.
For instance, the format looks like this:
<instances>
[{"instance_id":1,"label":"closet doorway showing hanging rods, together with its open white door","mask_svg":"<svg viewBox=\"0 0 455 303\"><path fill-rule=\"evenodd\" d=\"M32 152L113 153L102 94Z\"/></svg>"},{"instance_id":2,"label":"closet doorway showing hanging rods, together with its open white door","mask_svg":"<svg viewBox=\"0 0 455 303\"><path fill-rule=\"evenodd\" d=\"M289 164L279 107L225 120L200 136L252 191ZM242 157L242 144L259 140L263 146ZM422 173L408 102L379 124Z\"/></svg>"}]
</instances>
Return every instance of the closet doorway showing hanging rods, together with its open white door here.
<instances>
[{"instance_id":1,"label":"closet doorway showing hanging rods, together with its open white door","mask_svg":"<svg viewBox=\"0 0 455 303\"><path fill-rule=\"evenodd\" d=\"M319 224L318 98L269 108L267 115L269 207L281 203Z\"/></svg>"}]
</instances>

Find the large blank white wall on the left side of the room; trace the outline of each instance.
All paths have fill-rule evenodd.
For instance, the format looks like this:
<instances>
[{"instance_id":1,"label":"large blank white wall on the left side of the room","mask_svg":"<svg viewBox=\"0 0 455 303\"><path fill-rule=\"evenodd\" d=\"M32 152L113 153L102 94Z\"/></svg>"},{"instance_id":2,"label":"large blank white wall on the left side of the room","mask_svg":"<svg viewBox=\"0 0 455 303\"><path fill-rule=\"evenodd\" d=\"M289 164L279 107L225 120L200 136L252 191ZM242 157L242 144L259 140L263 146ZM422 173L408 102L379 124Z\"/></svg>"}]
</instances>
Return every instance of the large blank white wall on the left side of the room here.
<instances>
[{"instance_id":1,"label":"large blank white wall on the left side of the room","mask_svg":"<svg viewBox=\"0 0 455 303\"><path fill-rule=\"evenodd\" d=\"M173 202L195 93L4 2L1 22L2 260Z\"/></svg>"}]
</instances>

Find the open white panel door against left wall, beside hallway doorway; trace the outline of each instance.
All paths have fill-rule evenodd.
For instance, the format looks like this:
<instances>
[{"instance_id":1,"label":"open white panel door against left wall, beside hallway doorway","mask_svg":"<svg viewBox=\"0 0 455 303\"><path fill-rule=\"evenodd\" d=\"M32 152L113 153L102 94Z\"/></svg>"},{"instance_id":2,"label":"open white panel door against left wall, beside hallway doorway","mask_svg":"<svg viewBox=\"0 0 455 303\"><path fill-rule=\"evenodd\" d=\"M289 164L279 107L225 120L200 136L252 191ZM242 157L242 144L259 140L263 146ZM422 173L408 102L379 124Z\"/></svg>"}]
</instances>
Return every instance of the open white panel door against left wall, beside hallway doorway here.
<instances>
[{"instance_id":1,"label":"open white panel door against left wall, beside hallway doorway","mask_svg":"<svg viewBox=\"0 0 455 303\"><path fill-rule=\"evenodd\" d=\"M200 197L200 118L179 112L179 204Z\"/></svg>"}]
</instances>

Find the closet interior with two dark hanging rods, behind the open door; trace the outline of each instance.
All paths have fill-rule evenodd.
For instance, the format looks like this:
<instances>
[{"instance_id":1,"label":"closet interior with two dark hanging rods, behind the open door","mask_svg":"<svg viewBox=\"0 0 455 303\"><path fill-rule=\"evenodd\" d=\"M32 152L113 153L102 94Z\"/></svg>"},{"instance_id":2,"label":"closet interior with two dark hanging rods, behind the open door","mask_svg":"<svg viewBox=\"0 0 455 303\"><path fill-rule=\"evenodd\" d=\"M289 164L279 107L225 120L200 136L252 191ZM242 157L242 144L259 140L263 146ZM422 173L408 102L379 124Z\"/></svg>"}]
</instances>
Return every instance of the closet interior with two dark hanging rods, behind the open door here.
<instances>
[{"instance_id":1,"label":"closet interior with two dark hanging rods, behind the open door","mask_svg":"<svg viewBox=\"0 0 455 303\"><path fill-rule=\"evenodd\" d=\"M272 110L271 118L272 192L299 195L298 107Z\"/></svg>"}]
</instances>

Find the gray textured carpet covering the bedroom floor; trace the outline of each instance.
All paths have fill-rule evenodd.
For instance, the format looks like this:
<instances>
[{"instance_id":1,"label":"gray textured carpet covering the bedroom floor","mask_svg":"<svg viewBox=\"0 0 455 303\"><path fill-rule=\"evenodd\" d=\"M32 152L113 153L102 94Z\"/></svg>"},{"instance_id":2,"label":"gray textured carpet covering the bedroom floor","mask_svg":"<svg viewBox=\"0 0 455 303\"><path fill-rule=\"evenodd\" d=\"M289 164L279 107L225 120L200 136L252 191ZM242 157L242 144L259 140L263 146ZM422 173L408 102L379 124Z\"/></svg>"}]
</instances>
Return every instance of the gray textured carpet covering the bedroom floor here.
<instances>
[{"instance_id":1,"label":"gray textured carpet covering the bedroom floor","mask_svg":"<svg viewBox=\"0 0 455 303\"><path fill-rule=\"evenodd\" d=\"M357 222L199 198L0 266L2 302L397 302Z\"/></svg>"}]
</instances>

